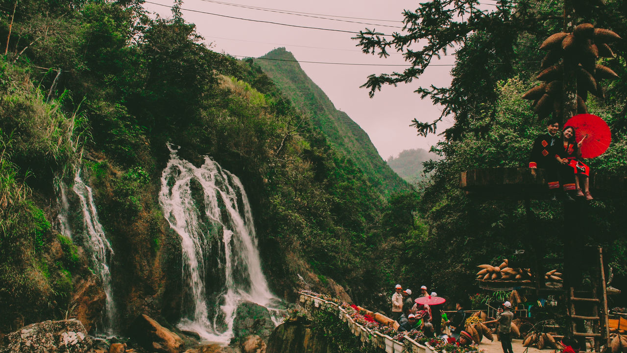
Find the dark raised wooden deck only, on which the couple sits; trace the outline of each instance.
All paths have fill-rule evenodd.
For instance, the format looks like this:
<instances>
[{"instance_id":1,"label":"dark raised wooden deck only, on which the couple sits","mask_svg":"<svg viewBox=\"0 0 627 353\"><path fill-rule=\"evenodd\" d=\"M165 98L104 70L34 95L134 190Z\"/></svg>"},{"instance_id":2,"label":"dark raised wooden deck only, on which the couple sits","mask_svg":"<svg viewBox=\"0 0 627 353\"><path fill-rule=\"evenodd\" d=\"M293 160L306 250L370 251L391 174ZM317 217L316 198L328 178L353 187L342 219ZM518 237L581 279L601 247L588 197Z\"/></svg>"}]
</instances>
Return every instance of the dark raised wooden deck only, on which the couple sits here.
<instances>
[{"instance_id":1,"label":"dark raised wooden deck only, on which the couple sits","mask_svg":"<svg viewBox=\"0 0 627 353\"><path fill-rule=\"evenodd\" d=\"M468 196L482 199L548 199L549 189L544 169L482 168L461 172L460 188ZM627 177L590 176L590 191L594 198L624 198Z\"/></svg>"}]
</instances>

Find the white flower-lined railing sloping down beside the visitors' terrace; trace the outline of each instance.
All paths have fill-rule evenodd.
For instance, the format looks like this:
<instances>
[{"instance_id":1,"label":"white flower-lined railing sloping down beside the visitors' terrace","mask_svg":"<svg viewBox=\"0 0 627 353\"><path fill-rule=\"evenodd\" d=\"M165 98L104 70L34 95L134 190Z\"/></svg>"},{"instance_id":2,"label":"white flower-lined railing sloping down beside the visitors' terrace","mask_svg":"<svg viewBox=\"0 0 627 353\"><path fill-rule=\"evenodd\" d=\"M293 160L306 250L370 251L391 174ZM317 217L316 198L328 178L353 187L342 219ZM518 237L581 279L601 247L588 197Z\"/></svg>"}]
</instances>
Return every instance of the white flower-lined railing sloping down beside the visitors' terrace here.
<instances>
[{"instance_id":1,"label":"white flower-lined railing sloping down beside the visitors' terrace","mask_svg":"<svg viewBox=\"0 0 627 353\"><path fill-rule=\"evenodd\" d=\"M308 312L312 313L316 310L320 310L322 305L330 305L332 307L337 308L338 319L345 322L350 331L360 337L361 341L364 343L372 344L380 349L386 351L386 353L402 353L402 352L411 352L411 353L436 353L433 349L429 348L427 345L421 345L408 336L404 336L404 342L399 342L398 340L394 340L392 337L388 335L381 334L381 332L369 330L362 325L357 324L344 310L344 308L340 307L334 302L328 302L319 297L315 297L314 295L309 295L305 293L300 293L300 298L298 300L298 304ZM365 310L365 309L364 309ZM367 312L368 310L366 310ZM378 314L378 315L377 315ZM369 314L370 315L370 314ZM385 317L379 313L372 313L372 317L377 320L382 325L389 325L393 321ZM379 319L377 319L379 317ZM383 319L384 318L384 319ZM387 320L385 320L387 319ZM381 320L381 321L379 321ZM398 327L398 323L396 323L396 327Z\"/></svg>"}]
</instances>

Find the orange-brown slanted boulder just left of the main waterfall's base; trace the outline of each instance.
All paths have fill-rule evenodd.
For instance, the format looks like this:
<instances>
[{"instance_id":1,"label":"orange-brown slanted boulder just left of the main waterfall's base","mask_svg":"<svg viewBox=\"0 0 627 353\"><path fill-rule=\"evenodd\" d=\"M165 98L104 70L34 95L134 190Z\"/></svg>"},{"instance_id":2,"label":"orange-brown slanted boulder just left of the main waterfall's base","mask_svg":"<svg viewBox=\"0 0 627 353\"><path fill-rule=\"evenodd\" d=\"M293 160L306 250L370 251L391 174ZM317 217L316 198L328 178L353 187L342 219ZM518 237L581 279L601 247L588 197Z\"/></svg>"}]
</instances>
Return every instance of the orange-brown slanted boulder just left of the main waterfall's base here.
<instances>
[{"instance_id":1,"label":"orange-brown slanted boulder just left of the main waterfall's base","mask_svg":"<svg viewBox=\"0 0 627 353\"><path fill-rule=\"evenodd\" d=\"M185 344L179 335L142 314L134 321L131 335L144 349L158 353L181 353Z\"/></svg>"}]
</instances>

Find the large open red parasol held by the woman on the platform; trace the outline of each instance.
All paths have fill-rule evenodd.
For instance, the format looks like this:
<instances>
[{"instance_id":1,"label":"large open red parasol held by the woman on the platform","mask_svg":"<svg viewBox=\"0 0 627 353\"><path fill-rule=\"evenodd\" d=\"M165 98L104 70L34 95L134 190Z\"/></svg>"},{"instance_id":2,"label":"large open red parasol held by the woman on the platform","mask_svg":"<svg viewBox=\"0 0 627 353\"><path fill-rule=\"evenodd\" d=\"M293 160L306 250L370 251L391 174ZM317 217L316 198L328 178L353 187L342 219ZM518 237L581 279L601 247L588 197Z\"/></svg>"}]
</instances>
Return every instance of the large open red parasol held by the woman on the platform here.
<instances>
[{"instance_id":1,"label":"large open red parasol held by the woman on the platform","mask_svg":"<svg viewBox=\"0 0 627 353\"><path fill-rule=\"evenodd\" d=\"M575 128L575 140L583 139L581 157L594 158L603 154L609 147L612 137L608 124L593 114L579 114L568 119L564 127Z\"/></svg>"}]
</instances>

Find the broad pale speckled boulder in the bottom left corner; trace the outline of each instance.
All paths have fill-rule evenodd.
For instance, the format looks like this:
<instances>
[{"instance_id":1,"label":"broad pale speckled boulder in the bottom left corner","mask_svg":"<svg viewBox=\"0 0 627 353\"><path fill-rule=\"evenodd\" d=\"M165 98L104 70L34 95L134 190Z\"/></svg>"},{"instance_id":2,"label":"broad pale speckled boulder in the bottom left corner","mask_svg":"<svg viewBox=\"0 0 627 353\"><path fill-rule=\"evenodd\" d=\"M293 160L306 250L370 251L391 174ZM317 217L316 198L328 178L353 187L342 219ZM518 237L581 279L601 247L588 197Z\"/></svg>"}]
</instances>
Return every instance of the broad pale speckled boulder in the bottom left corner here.
<instances>
[{"instance_id":1,"label":"broad pale speckled boulder in the bottom left corner","mask_svg":"<svg viewBox=\"0 0 627 353\"><path fill-rule=\"evenodd\" d=\"M4 337L2 353L87 353L92 339L75 319L24 326Z\"/></svg>"}]
</instances>

